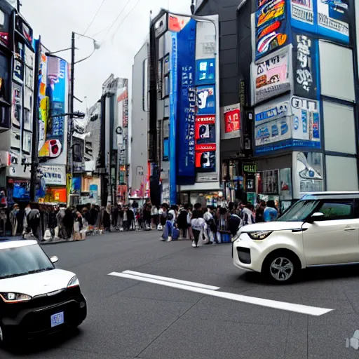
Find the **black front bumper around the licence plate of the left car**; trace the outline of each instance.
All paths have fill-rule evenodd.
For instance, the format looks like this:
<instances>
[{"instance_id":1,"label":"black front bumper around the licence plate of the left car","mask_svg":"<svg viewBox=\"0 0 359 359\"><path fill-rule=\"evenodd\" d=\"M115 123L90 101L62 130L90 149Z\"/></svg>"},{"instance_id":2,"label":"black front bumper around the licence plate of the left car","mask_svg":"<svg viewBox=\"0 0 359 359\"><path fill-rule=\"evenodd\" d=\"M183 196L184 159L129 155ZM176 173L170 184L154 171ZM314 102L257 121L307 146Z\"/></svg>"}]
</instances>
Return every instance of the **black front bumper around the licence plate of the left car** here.
<instances>
[{"instance_id":1,"label":"black front bumper around the licence plate of the left car","mask_svg":"<svg viewBox=\"0 0 359 359\"><path fill-rule=\"evenodd\" d=\"M22 337L23 339L34 339L44 334L53 334L69 327L81 324L87 316L87 303L83 294L69 297L61 302L52 303L40 307L31 308L31 303L17 310L15 305L6 311L0 318L0 325L8 339ZM20 304L21 305L21 304ZM64 313L64 323L56 326L51 325L51 316L56 313Z\"/></svg>"}]
</instances>

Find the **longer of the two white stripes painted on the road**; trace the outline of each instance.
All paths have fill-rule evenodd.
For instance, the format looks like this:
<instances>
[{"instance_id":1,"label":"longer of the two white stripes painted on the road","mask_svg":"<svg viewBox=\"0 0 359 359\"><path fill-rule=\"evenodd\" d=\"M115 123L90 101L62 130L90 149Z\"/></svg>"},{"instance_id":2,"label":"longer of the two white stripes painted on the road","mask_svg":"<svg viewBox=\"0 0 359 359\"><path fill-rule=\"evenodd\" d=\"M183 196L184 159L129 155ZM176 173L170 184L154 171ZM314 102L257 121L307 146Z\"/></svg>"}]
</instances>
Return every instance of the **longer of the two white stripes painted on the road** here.
<instances>
[{"instance_id":1,"label":"longer of the two white stripes painted on the road","mask_svg":"<svg viewBox=\"0 0 359 359\"><path fill-rule=\"evenodd\" d=\"M273 308L273 309L281 309L283 311L292 311L295 313L307 314L309 316L323 316L323 314L328 313L333 310L333 309L319 308L316 306L305 306L302 304L278 302L276 300L271 300L271 299L247 297L247 296L241 295L241 294L218 292L216 290L208 290L205 288L192 287L190 285L171 283L171 282L166 282L165 280L157 280L157 279L153 279L153 278L133 276L132 274L126 274L126 273L112 272L112 273L109 273L109 276L116 276L116 277L121 277L121 278L140 280L142 282L164 285L165 287L189 290L191 292L212 295L212 297L230 299L230 300L234 300L236 302L255 304L257 306L268 306L269 308Z\"/></svg>"}]
</instances>

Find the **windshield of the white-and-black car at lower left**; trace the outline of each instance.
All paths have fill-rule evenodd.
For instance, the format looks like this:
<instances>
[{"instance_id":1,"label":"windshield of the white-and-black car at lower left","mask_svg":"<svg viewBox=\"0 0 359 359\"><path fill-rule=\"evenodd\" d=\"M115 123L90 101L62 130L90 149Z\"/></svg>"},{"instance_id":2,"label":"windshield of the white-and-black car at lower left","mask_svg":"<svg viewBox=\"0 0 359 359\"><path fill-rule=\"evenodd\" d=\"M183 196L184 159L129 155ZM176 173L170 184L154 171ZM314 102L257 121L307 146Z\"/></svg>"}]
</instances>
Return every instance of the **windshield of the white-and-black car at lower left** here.
<instances>
[{"instance_id":1,"label":"windshield of the white-and-black car at lower left","mask_svg":"<svg viewBox=\"0 0 359 359\"><path fill-rule=\"evenodd\" d=\"M54 268L37 244L0 250L0 279L50 271Z\"/></svg>"}]
</instances>

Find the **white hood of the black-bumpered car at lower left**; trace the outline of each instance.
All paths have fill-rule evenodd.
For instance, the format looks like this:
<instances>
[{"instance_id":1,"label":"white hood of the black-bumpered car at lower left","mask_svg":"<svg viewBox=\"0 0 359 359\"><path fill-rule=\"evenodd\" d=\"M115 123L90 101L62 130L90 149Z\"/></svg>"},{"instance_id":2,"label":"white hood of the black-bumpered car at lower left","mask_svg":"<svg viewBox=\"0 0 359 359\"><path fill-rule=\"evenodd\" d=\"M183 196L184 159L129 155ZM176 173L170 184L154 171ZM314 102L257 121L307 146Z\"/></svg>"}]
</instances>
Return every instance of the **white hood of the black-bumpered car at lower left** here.
<instances>
[{"instance_id":1,"label":"white hood of the black-bumpered car at lower left","mask_svg":"<svg viewBox=\"0 0 359 359\"><path fill-rule=\"evenodd\" d=\"M1 279L0 292L15 292L34 297L66 288L74 275L69 271L53 269L52 271Z\"/></svg>"}]
</instances>

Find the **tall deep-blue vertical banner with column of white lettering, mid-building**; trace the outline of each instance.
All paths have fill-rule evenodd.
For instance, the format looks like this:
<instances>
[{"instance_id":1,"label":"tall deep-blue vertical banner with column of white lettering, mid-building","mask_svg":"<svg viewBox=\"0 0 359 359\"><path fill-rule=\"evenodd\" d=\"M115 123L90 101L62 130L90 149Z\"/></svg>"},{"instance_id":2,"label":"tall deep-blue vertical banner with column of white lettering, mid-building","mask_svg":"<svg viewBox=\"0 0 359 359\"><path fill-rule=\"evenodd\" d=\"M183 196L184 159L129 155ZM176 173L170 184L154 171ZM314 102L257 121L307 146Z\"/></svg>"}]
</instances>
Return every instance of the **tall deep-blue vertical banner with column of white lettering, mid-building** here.
<instances>
[{"instance_id":1,"label":"tall deep-blue vertical banner with column of white lettering, mid-building","mask_svg":"<svg viewBox=\"0 0 359 359\"><path fill-rule=\"evenodd\" d=\"M175 132L175 142L177 142L177 184L194 184L194 123L196 114L196 92L194 88L196 67L195 20L190 20L180 32L177 32L176 52L176 81L178 82L176 82L177 85L173 83L172 86L174 88L178 86L178 92L173 94L174 100L177 100L177 131ZM173 62L175 60L173 50L171 57ZM171 130L170 133L172 133ZM170 139L170 152L172 149L171 140L172 137ZM172 161L171 154L170 161Z\"/></svg>"}]
</instances>

